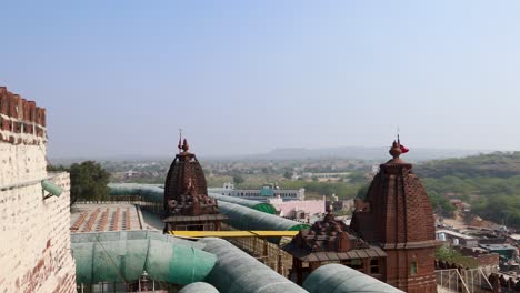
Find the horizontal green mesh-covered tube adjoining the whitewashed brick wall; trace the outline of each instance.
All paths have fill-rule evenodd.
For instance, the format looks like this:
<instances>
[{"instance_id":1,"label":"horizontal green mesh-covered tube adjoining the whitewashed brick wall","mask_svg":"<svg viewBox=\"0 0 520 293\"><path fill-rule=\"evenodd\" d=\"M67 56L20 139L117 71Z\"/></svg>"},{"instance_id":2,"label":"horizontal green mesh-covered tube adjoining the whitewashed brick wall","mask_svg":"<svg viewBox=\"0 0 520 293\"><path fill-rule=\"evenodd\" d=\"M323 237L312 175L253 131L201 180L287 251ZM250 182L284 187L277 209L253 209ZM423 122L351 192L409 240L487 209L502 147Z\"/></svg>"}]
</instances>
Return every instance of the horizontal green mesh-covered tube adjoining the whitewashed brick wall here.
<instances>
[{"instance_id":1,"label":"horizontal green mesh-covered tube adjoining the whitewashed brick wall","mask_svg":"<svg viewBox=\"0 0 520 293\"><path fill-rule=\"evenodd\" d=\"M204 280L217 257L203 243L162 235L152 231L72 233L77 283L150 279L173 284Z\"/></svg>"}]
</instances>

